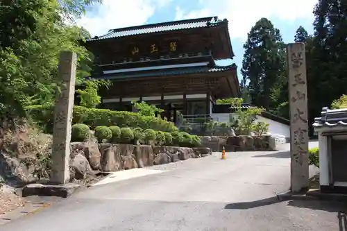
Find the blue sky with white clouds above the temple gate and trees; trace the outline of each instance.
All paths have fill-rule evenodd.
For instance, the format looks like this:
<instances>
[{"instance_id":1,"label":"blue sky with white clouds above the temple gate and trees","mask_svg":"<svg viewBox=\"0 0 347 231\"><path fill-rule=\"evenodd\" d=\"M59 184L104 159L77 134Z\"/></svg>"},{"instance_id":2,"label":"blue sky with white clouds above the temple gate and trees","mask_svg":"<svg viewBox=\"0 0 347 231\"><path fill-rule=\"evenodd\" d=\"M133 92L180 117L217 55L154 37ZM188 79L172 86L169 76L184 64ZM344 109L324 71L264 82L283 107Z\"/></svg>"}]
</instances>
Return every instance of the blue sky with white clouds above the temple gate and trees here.
<instances>
[{"instance_id":1,"label":"blue sky with white clouds above the temple gate and trees","mask_svg":"<svg viewBox=\"0 0 347 231\"><path fill-rule=\"evenodd\" d=\"M294 42L299 26L313 32L312 13L317 0L103 0L87 8L77 24L92 36L109 29L180 19L217 16L228 19L232 49L238 70L242 67L243 44L247 33L262 17L280 29L284 42ZM223 63L222 63L223 64ZM241 75L239 74L239 78Z\"/></svg>"}]
</instances>

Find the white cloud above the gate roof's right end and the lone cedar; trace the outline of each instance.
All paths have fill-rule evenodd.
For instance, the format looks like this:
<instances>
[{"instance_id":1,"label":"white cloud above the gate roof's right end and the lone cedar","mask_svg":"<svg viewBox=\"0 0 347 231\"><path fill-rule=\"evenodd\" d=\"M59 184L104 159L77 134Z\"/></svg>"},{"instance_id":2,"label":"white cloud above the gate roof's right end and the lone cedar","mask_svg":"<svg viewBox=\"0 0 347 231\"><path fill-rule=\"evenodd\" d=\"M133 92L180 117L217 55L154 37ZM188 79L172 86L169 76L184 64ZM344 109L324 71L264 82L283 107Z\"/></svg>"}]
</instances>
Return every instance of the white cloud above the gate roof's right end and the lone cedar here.
<instances>
[{"instance_id":1,"label":"white cloud above the gate roof's right end and the lone cedar","mask_svg":"<svg viewBox=\"0 0 347 231\"><path fill-rule=\"evenodd\" d=\"M262 17L277 17L289 22L312 19L316 0L199 0L199 10L176 8L176 19L218 16L229 20L230 37L245 39Z\"/></svg>"}]
</instances>

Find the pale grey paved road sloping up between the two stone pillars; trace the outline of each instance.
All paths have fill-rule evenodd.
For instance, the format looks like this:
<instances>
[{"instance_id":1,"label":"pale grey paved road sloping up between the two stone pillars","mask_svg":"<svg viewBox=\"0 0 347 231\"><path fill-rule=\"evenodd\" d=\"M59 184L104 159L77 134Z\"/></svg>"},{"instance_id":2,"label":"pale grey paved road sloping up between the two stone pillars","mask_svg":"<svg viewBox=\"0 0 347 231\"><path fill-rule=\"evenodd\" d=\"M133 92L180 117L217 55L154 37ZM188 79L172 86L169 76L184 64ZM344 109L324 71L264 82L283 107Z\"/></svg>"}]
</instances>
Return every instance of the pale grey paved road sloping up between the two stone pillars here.
<instances>
[{"instance_id":1,"label":"pale grey paved road sloping up between the two stone pillars","mask_svg":"<svg viewBox=\"0 0 347 231\"><path fill-rule=\"evenodd\" d=\"M219 157L143 169L158 174L92 187L0 230L340 230L341 204L276 200L289 188L286 151Z\"/></svg>"}]
</instances>

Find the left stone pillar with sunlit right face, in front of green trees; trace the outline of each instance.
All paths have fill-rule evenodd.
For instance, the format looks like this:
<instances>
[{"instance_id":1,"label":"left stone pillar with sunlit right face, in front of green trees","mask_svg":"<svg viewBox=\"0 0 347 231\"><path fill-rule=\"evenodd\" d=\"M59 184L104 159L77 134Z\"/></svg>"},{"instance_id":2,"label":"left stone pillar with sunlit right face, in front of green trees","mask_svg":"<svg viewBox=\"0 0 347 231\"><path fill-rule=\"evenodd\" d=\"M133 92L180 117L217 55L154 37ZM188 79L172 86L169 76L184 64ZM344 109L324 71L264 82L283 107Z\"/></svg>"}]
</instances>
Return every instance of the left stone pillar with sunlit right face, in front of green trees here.
<instances>
[{"instance_id":1,"label":"left stone pillar with sunlit right face, in front of green trees","mask_svg":"<svg viewBox=\"0 0 347 231\"><path fill-rule=\"evenodd\" d=\"M54 108L51 182L69 182L72 110L74 108L76 53L60 53L58 88Z\"/></svg>"}]
</instances>

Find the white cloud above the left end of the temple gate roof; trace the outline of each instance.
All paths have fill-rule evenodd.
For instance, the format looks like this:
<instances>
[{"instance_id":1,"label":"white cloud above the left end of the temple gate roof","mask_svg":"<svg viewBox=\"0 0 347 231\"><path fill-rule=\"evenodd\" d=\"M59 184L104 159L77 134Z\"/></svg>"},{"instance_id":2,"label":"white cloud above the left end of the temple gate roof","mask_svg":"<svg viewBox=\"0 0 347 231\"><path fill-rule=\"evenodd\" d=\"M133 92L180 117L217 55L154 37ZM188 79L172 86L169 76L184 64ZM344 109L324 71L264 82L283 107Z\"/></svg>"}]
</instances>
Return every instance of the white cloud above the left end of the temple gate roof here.
<instances>
[{"instance_id":1,"label":"white cloud above the left end of the temple gate roof","mask_svg":"<svg viewBox=\"0 0 347 231\"><path fill-rule=\"evenodd\" d=\"M87 13L77 20L92 36L104 35L108 30L146 23L155 10L171 0L103 0L97 12Z\"/></svg>"}]
</instances>

